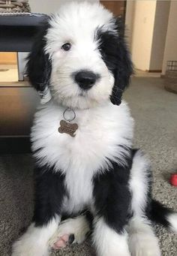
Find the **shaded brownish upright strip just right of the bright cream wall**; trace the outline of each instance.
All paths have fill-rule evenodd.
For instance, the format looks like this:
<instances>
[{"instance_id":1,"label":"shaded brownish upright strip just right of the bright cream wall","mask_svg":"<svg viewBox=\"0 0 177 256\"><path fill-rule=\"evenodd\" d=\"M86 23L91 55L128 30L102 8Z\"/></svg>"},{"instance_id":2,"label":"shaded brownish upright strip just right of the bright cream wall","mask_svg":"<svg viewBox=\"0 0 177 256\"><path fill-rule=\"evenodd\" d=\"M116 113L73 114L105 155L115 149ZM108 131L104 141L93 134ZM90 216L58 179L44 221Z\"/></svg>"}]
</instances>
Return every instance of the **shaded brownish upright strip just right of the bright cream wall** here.
<instances>
[{"instance_id":1,"label":"shaded brownish upright strip just right of the bright cream wall","mask_svg":"<svg viewBox=\"0 0 177 256\"><path fill-rule=\"evenodd\" d=\"M170 1L157 1L149 70L161 71L169 19Z\"/></svg>"}]
</instances>

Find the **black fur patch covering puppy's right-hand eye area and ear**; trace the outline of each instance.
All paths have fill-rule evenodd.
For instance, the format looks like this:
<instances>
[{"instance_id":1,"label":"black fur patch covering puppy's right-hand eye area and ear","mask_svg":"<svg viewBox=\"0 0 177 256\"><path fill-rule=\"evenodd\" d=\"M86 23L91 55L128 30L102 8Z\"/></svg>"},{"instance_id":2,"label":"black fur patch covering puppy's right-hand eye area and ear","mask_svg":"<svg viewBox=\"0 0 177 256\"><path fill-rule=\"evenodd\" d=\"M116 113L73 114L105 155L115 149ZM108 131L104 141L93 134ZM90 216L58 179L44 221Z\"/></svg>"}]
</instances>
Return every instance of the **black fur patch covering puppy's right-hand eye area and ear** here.
<instances>
[{"instance_id":1,"label":"black fur patch covering puppy's right-hand eye area and ear","mask_svg":"<svg viewBox=\"0 0 177 256\"><path fill-rule=\"evenodd\" d=\"M124 40L124 27L121 20L115 20L115 27L117 34L109 30L105 32L100 28L95 39L100 43L102 59L115 78L110 99L113 104L119 105L122 92L129 84L130 75L133 74L133 65Z\"/></svg>"}]
</instances>

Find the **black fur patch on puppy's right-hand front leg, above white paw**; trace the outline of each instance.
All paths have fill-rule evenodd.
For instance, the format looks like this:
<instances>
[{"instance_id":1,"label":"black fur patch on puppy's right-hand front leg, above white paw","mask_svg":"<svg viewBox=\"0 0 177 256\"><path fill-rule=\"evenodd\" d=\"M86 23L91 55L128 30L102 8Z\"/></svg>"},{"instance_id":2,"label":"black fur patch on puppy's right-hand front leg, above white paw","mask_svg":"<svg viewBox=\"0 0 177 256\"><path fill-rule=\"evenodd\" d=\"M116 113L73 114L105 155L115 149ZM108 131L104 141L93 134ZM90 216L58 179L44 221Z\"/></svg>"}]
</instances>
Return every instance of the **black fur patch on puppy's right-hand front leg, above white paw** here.
<instances>
[{"instance_id":1,"label":"black fur patch on puppy's right-hand front leg, above white paw","mask_svg":"<svg viewBox=\"0 0 177 256\"><path fill-rule=\"evenodd\" d=\"M132 165L131 154L126 161L127 167L113 162L111 170L105 170L93 179L97 215L103 217L104 221L118 233L121 233L132 215L128 186Z\"/></svg>"}]
</instances>

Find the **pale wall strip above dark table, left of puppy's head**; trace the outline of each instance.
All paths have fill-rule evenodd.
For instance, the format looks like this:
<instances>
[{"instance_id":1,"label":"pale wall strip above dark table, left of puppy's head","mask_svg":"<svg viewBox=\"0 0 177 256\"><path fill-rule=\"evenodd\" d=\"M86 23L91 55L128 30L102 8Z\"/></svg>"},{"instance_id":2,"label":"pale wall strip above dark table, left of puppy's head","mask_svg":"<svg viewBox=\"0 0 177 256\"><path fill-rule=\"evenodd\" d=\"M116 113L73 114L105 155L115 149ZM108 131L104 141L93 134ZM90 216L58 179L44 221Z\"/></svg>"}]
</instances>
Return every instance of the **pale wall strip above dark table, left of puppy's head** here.
<instances>
[{"instance_id":1,"label":"pale wall strip above dark table, left of puppy's head","mask_svg":"<svg viewBox=\"0 0 177 256\"><path fill-rule=\"evenodd\" d=\"M82 2L84 0L29 0L31 11L34 13L52 14L66 2ZM87 0L97 2L98 0Z\"/></svg>"}]
</instances>

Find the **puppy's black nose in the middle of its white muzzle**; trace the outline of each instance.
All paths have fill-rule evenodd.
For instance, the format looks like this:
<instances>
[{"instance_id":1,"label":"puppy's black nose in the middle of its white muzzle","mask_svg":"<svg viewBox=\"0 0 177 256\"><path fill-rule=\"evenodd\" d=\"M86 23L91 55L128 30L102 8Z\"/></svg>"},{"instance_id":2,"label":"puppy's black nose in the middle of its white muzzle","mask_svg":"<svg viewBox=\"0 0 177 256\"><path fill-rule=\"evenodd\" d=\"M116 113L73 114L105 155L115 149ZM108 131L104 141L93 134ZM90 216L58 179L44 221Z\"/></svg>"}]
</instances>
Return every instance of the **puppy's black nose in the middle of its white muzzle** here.
<instances>
[{"instance_id":1,"label":"puppy's black nose in the middle of its white muzzle","mask_svg":"<svg viewBox=\"0 0 177 256\"><path fill-rule=\"evenodd\" d=\"M91 89L97 79L98 76L92 71L80 71L75 74L75 81L84 90Z\"/></svg>"}]
</instances>

